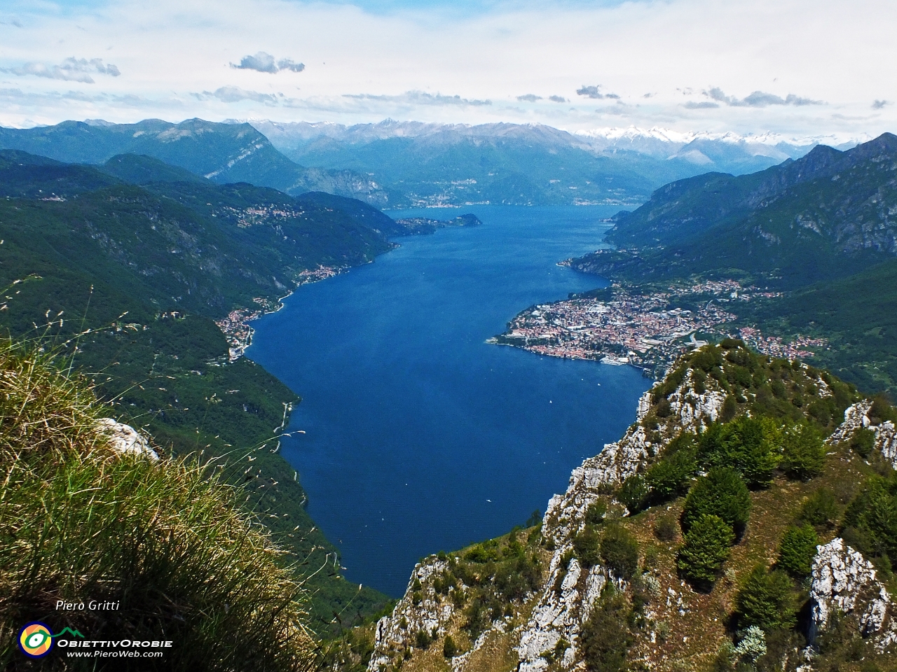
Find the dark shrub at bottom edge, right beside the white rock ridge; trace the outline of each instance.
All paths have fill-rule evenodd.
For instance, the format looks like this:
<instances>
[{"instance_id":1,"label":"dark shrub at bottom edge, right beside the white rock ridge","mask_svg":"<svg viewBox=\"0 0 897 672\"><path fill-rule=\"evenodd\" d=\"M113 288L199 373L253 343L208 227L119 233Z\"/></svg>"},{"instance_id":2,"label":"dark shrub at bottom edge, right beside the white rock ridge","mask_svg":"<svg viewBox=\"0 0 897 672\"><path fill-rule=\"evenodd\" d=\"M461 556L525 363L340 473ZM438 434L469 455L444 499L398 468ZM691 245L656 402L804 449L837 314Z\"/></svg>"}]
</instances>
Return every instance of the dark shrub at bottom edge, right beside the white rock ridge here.
<instances>
[{"instance_id":1,"label":"dark shrub at bottom edge, right beside the white rock ridge","mask_svg":"<svg viewBox=\"0 0 897 672\"><path fill-rule=\"evenodd\" d=\"M605 590L579 634L579 652L589 672L622 672L632 644L631 609L626 598Z\"/></svg>"}]
</instances>

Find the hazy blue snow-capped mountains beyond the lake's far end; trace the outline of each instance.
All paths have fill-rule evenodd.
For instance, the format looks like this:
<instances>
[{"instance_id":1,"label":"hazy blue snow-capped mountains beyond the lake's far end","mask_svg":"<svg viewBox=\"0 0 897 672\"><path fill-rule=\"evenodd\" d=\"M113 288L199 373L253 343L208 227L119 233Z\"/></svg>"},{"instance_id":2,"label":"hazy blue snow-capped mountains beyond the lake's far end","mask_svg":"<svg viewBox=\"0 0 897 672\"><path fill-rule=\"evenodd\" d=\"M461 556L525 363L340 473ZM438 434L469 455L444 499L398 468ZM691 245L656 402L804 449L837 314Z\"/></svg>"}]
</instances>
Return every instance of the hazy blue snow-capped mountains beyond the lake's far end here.
<instances>
[{"instance_id":1,"label":"hazy blue snow-capped mountains beyond the lake's far end","mask_svg":"<svg viewBox=\"0 0 897 672\"><path fill-rule=\"evenodd\" d=\"M253 121L304 165L351 168L408 207L473 202L637 204L658 186L709 169L767 168L810 146L735 136L569 134L546 125L278 124ZM399 197L399 196L396 196Z\"/></svg>"}]
</instances>

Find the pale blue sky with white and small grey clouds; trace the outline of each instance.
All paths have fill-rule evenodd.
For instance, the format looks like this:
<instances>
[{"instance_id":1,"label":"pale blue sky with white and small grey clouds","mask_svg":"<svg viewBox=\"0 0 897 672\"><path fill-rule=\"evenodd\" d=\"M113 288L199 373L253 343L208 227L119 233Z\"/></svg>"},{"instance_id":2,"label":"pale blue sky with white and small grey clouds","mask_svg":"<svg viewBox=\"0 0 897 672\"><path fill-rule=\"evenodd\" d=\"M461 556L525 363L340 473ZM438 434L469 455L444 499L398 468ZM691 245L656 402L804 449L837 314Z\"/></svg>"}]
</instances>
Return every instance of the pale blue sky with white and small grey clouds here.
<instances>
[{"instance_id":1,"label":"pale blue sky with white and small grey clouds","mask_svg":"<svg viewBox=\"0 0 897 672\"><path fill-rule=\"evenodd\" d=\"M0 125L897 131L893 0L4 0Z\"/></svg>"}]
</instances>

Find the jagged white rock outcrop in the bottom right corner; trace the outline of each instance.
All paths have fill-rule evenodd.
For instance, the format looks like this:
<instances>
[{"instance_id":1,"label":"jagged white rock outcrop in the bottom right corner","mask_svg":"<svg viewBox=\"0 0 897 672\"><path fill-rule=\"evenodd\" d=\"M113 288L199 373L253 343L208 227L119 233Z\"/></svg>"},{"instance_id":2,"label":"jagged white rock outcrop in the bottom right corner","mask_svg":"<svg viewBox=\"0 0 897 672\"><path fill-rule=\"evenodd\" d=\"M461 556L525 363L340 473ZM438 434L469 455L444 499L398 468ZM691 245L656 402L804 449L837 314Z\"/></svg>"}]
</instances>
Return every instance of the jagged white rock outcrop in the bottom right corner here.
<instances>
[{"instance_id":1,"label":"jagged white rock outcrop in the bottom right corner","mask_svg":"<svg viewBox=\"0 0 897 672\"><path fill-rule=\"evenodd\" d=\"M836 538L817 547L812 576L811 643L831 624L836 613L856 617L863 636L875 637L880 647L897 642L897 622L890 614L890 594L875 578L873 564L843 539Z\"/></svg>"}]
</instances>

